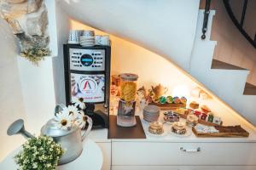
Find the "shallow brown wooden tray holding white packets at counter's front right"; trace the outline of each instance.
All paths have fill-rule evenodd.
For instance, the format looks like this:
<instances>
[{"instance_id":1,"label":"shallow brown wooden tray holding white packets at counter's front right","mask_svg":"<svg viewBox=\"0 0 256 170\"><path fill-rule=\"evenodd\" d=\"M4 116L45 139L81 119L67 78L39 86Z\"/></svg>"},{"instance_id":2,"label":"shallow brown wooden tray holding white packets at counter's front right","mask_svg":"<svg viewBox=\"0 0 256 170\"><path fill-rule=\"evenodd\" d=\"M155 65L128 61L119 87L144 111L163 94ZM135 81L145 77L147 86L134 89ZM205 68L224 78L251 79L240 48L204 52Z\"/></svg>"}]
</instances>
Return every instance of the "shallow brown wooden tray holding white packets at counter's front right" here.
<instances>
[{"instance_id":1,"label":"shallow brown wooden tray holding white packets at counter's front right","mask_svg":"<svg viewBox=\"0 0 256 170\"><path fill-rule=\"evenodd\" d=\"M240 125L238 126L215 126L218 129L218 133L198 133L195 127L192 127L195 136L201 138L246 138L249 133L243 129Z\"/></svg>"}]
</instances>

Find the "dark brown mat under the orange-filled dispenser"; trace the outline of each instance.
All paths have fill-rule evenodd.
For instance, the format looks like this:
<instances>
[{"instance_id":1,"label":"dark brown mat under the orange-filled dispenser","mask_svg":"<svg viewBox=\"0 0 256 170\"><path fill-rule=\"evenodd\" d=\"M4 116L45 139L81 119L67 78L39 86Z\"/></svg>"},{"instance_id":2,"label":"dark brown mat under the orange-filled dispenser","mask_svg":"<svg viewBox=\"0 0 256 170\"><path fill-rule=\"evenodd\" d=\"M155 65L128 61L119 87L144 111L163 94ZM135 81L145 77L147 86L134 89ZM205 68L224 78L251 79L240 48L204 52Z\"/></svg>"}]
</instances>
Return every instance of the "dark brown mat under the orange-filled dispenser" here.
<instances>
[{"instance_id":1,"label":"dark brown mat under the orange-filled dispenser","mask_svg":"<svg viewBox=\"0 0 256 170\"><path fill-rule=\"evenodd\" d=\"M117 116L109 116L108 139L146 139L143 124L139 116L134 116L136 125L133 127L120 127Z\"/></svg>"}]
</instances>

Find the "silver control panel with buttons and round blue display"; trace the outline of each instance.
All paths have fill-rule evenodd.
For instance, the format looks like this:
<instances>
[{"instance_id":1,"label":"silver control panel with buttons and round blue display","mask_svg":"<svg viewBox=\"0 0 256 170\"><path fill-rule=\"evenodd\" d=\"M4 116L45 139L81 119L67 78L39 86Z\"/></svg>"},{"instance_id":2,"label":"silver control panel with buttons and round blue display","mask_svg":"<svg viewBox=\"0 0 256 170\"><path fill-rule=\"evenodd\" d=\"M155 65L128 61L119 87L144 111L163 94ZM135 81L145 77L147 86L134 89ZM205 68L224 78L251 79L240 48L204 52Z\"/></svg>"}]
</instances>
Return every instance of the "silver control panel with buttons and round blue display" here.
<instances>
[{"instance_id":1,"label":"silver control panel with buttons and round blue display","mask_svg":"<svg viewBox=\"0 0 256 170\"><path fill-rule=\"evenodd\" d=\"M105 50L70 48L69 62L73 71L105 71Z\"/></svg>"}]
</instances>

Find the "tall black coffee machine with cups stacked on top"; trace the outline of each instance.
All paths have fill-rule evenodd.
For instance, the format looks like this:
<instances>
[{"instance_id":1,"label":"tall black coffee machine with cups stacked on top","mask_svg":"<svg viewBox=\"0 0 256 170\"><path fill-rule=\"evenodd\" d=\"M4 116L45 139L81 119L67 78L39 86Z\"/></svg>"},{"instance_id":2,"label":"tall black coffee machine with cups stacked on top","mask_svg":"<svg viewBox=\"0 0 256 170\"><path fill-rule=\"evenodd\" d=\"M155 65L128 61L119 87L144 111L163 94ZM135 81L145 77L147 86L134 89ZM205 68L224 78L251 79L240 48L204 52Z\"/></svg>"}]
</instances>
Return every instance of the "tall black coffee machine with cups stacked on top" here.
<instances>
[{"instance_id":1,"label":"tall black coffee machine with cups stacked on top","mask_svg":"<svg viewBox=\"0 0 256 170\"><path fill-rule=\"evenodd\" d=\"M109 46L64 45L67 105L75 98L83 98L93 128L108 127L110 58Z\"/></svg>"}]
</instances>

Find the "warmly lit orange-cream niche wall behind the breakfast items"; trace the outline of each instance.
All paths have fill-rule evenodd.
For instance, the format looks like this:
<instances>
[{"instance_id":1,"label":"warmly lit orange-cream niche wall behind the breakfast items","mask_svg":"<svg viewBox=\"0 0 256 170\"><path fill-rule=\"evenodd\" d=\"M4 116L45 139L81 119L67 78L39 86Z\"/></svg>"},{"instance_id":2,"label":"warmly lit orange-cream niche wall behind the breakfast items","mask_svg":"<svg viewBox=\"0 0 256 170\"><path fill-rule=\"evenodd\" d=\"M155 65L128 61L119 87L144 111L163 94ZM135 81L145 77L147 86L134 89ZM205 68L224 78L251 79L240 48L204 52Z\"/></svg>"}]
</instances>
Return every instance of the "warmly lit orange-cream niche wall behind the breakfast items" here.
<instances>
[{"instance_id":1,"label":"warmly lit orange-cream niche wall behind the breakfast items","mask_svg":"<svg viewBox=\"0 0 256 170\"><path fill-rule=\"evenodd\" d=\"M94 30L98 35L107 34L85 26L76 20L71 20L70 26L74 30ZM189 89L197 86L195 82L185 76L183 71L162 56L113 35L110 35L110 39L112 42L112 75L124 72L136 73L139 76L139 87L149 88L151 85L161 83L169 89L171 94L177 86L185 85Z\"/></svg>"}]
</instances>

